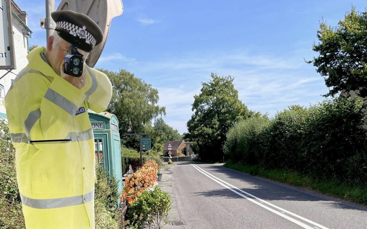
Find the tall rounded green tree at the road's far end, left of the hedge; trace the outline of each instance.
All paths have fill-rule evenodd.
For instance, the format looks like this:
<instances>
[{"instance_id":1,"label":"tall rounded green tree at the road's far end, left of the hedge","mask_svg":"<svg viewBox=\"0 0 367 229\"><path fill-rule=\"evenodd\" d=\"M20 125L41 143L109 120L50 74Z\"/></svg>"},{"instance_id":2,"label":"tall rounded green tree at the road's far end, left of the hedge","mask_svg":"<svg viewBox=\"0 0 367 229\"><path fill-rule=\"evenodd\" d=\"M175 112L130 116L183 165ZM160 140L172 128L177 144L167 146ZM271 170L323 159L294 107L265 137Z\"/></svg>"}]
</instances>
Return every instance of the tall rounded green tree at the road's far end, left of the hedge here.
<instances>
[{"instance_id":1,"label":"tall rounded green tree at the road's far end, left of the hedge","mask_svg":"<svg viewBox=\"0 0 367 229\"><path fill-rule=\"evenodd\" d=\"M231 76L218 77L212 73L211 80L202 85L200 94L194 96L194 114L187 123L189 134L185 137L195 142L193 150L201 159L219 161L228 130L254 112L238 99Z\"/></svg>"}]
</instances>

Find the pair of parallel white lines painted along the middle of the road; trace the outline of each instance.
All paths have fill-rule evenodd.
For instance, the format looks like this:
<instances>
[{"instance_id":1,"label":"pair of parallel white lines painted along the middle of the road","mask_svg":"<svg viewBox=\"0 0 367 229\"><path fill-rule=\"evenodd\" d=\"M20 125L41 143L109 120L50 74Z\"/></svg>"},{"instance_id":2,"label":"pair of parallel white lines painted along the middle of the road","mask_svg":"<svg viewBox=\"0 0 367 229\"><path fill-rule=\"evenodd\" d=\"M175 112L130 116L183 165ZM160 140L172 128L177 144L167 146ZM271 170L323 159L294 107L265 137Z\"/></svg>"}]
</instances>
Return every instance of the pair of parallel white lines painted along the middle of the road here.
<instances>
[{"instance_id":1,"label":"pair of parallel white lines painted along the middle of the road","mask_svg":"<svg viewBox=\"0 0 367 229\"><path fill-rule=\"evenodd\" d=\"M264 202L265 204L268 204L268 205L270 205L270 206L272 206L272 207L274 207L274 208L277 208L277 209L279 209L279 210L281 210L281 211L284 211L285 213L288 213L288 214L290 214L290 215L292 215L292 216L294 216L294 217L297 217L297 218L299 218L299 219L302 219L303 221L308 222L308 223L310 223L310 224L313 224L313 225L315 225L315 226L317 226L317 227L319 227L319 228L322 228L322 229L329 229L329 228L327 228L327 227L325 227L325 226L322 226L322 225L320 225L320 224L317 224L316 222L313 222L313 221L311 221L311 220L309 220L309 219L306 219L306 218L304 218L304 217L302 217L302 216L299 216L299 215L294 214L294 213L292 213L292 212L290 212L290 211L287 211L287 210L285 210L285 209L283 209L283 208L281 208L281 207L278 207L278 206L276 206L276 205L274 205L274 204L272 204L272 203L269 203L269 202L267 202L267 201L265 201L265 200L262 200L262 199L260 199L259 197L256 197L256 196L254 196L254 195L252 195L252 194L250 194L250 193L248 193L248 192L245 192L245 191L243 191L242 189L239 189L239 188L237 188L236 186L233 186L233 185L229 184L228 182L225 182L225 181L223 181L223 180L219 179L218 177L213 176L212 174L210 174L210 173L208 173L207 171L205 171L205 170L201 169L201 168L200 168L199 166L197 166L197 165L193 165L193 164L192 164L192 166L194 166L194 167L195 167L195 169L199 170L199 171L200 171L201 173L203 173L205 176L207 176L207 177L211 178L212 180L214 180L214 181L215 181L215 182L217 182L218 184L220 184L220 185L222 185L222 186L224 186L224 187L226 187L226 188L230 189L232 192L237 193L238 195L240 195L240 196L242 196L242 197L244 197L244 198L246 198L246 199L250 200L251 202L253 202L253 203L255 203L255 204L258 204L259 206L264 207L264 208L266 208L267 210L272 211L273 213L275 213L275 214L277 214L277 215L280 215L281 217L284 217L284 218L286 218L286 219L288 219L288 220L290 220L290 221L294 222L295 224L300 223L300 224L302 224L302 225L300 225L300 224L298 224L298 225L300 225L300 226L302 226L302 227L306 226L306 227L304 227L304 228L308 228L308 229L314 229L314 228L315 228L315 227L311 228L310 226L308 226L308 225L306 225L306 224L303 224L302 222L300 222L300 221L298 221L298 220L296 220L296 219L294 219L294 218L288 217L287 215L284 215L284 214L282 214L282 213L280 213L280 212L278 212L278 211L276 211L276 210L273 210L272 208L269 208L269 207L267 207L267 206L265 206L265 205L263 205L263 204L261 204L261 203L259 203L259 202L255 201L255 200L253 200L253 199L251 199L251 198L247 197L247 196L242 195L241 193L239 193L239 192L235 191L235 190L234 190L234 189L232 189L232 188L235 188L235 189L237 189L238 191L240 191L240 192L242 192L242 193L245 193L245 194L246 194L246 195L248 195L248 196L254 197L255 199L257 199L257 200L259 200L259 201L261 201L261 202ZM217 179L218 181L217 181L217 180L215 180L214 178L215 178L215 179ZM219 182L219 181L223 182L224 184L222 184L222 183L221 183L221 182ZM228 186L231 186L232 188L229 188L229 187L228 187L228 186L226 186L225 184L226 184L226 185L228 185ZM297 222L298 222L298 223L297 223ZM303 225L304 225L304 226L303 226Z\"/></svg>"}]
</instances>

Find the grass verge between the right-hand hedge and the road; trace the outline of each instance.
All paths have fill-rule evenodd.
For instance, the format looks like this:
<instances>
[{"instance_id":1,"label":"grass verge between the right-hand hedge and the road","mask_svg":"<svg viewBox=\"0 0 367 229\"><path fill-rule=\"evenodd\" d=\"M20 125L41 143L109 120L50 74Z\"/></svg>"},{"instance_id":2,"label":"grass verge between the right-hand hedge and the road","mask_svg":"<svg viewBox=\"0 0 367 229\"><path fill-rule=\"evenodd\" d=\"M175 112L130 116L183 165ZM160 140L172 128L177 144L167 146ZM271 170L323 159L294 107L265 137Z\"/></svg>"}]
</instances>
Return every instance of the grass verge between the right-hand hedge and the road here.
<instances>
[{"instance_id":1,"label":"grass verge between the right-hand hedge and the road","mask_svg":"<svg viewBox=\"0 0 367 229\"><path fill-rule=\"evenodd\" d=\"M352 186L338 181L311 178L294 171L264 169L260 166L248 166L230 161L226 162L224 167L367 206L366 186Z\"/></svg>"}]
</instances>

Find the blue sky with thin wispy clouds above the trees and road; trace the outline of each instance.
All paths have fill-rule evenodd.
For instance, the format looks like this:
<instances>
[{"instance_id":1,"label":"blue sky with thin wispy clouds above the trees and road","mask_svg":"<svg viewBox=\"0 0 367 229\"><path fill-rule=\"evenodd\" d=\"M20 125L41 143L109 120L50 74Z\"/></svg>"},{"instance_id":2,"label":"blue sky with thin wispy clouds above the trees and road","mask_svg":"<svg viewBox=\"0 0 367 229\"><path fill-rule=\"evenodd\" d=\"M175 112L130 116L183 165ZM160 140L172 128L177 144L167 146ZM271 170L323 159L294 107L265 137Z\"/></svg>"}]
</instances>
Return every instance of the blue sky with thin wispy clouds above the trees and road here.
<instances>
[{"instance_id":1,"label":"blue sky with thin wispy clouds above the trees and road","mask_svg":"<svg viewBox=\"0 0 367 229\"><path fill-rule=\"evenodd\" d=\"M37 5L36 3L43 4ZM56 1L56 6L60 1ZM16 0L28 13L30 44L45 45L39 27L44 1ZM126 69L159 91L164 120L182 134L192 115L193 95L211 72L231 75L249 109L277 111L309 106L327 93L323 78L306 64L317 55L312 44L320 20L336 26L354 5L366 0L243 1L125 0L111 23L95 67Z\"/></svg>"}]
</instances>

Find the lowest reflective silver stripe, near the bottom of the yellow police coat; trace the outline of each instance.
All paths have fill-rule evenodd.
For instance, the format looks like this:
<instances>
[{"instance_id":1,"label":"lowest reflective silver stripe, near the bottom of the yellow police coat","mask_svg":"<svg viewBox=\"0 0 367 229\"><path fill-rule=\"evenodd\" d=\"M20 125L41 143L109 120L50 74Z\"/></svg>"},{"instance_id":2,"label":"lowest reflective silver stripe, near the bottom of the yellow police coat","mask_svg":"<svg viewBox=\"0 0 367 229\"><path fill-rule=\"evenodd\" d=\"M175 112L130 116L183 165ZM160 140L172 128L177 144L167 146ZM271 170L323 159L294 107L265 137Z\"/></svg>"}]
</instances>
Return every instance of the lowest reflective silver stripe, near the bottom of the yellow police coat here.
<instances>
[{"instance_id":1,"label":"lowest reflective silver stripe, near the bottom of the yellow police coat","mask_svg":"<svg viewBox=\"0 0 367 229\"><path fill-rule=\"evenodd\" d=\"M69 207L75 206L83 203L90 202L94 199L94 190L90 193L80 195L63 197L56 199L32 199L20 194L22 203L25 206L38 208L38 209L49 209L49 208L59 208L59 207Z\"/></svg>"}]
</instances>

